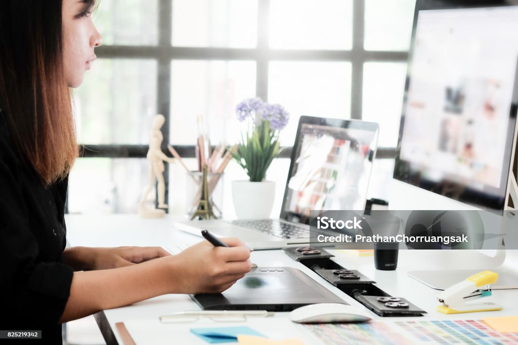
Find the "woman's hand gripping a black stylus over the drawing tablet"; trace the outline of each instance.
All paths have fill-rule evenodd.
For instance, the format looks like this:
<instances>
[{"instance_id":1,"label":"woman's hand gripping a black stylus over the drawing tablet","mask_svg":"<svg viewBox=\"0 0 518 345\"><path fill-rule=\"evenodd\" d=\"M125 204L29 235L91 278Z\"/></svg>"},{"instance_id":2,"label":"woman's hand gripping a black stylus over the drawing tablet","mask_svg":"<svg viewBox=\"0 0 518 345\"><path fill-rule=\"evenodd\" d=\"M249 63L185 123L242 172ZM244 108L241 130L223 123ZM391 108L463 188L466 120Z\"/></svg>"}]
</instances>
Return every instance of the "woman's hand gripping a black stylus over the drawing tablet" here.
<instances>
[{"instance_id":1,"label":"woman's hand gripping a black stylus over the drawing tablet","mask_svg":"<svg viewBox=\"0 0 518 345\"><path fill-rule=\"evenodd\" d=\"M223 238L231 248L200 242L174 256L175 293L219 293L250 272L250 249L237 238Z\"/></svg>"}]
</instances>

